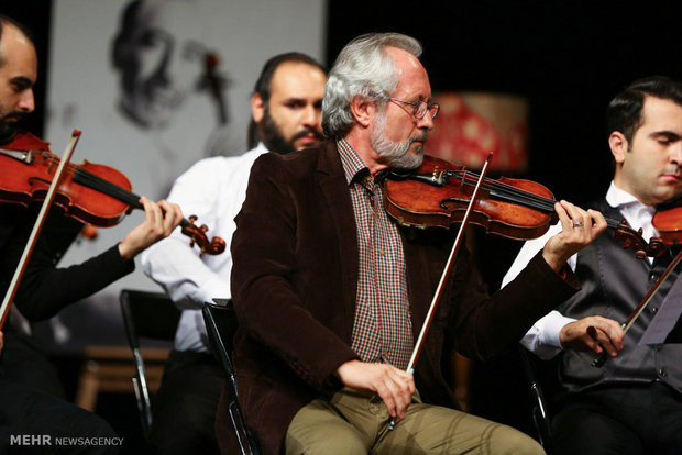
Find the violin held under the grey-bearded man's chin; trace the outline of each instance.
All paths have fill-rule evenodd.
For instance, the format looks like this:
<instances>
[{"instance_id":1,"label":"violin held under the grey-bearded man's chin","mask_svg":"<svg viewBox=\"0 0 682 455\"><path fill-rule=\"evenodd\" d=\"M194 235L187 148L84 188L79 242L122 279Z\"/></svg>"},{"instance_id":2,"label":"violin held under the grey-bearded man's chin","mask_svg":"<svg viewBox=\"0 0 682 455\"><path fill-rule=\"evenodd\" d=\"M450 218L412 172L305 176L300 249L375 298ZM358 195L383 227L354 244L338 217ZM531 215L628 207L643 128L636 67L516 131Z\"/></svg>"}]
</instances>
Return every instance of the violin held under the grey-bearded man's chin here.
<instances>
[{"instance_id":1,"label":"violin held under the grey-bearded man's chin","mask_svg":"<svg viewBox=\"0 0 682 455\"><path fill-rule=\"evenodd\" d=\"M391 170L384 185L384 208L398 223L419 229L446 228L462 220L477 175L464 166L426 155L414 171ZM551 191L531 180L485 178L470 222L490 233L514 240L531 240L544 234L558 221ZM682 214L682 208L680 209ZM641 230L624 220L606 219L624 248L639 258L658 257L667 251L658 237L647 243ZM682 234L680 234L682 237Z\"/></svg>"}]
</instances>

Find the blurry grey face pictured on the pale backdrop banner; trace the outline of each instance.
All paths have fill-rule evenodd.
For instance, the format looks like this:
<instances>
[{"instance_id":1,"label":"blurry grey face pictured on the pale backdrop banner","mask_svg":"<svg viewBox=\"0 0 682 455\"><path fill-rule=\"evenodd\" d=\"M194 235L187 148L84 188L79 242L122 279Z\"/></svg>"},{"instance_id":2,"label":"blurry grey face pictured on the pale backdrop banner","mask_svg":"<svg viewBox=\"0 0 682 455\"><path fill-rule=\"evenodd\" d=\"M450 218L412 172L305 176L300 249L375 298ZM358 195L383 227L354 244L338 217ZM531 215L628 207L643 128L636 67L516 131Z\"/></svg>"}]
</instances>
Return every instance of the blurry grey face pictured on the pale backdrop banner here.
<instances>
[{"instance_id":1,"label":"blurry grey face pictured on the pale backdrop banner","mask_svg":"<svg viewBox=\"0 0 682 455\"><path fill-rule=\"evenodd\" d=\"M204 74L204 29L189 0L135 0L113 43L119 107L145 129L164 129Z\"/></svg>"}]
</instances>

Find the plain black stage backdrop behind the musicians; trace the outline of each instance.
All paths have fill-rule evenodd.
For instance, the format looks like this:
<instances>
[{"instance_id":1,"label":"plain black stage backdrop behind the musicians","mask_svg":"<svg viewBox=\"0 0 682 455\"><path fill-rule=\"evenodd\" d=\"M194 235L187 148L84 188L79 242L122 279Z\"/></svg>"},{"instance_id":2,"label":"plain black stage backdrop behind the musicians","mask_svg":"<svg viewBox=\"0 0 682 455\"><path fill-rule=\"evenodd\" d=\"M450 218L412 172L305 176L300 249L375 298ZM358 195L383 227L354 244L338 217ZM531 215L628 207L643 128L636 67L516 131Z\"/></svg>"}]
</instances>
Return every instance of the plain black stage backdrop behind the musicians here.
<instances>
[{"instance_id":1,"label":"plain black stage backdrop behind the musicians","mask_svg":"<svg viewBox=\"0 0 682 455\"><path fill-rule=\"evenodd\" d=\"M50 4L0 3L0 12L36 31L43 69L33 116L38 133L50 77L44 70ZM636 78L682 77L679 10L675 2L647 2L634 10L622 2L330 0L327 60L331 64L361 33L416 36L425 45L424 63L435 91L527 98L529 170L522 177L547 185L559 198L585 202L602 195L612 177L603 119L608 100ZM481 233L477 237L482 269L496 288L520 244ZM530 431L518 371L514 356L477 365L473 410Z\"/></svg>"}]
</instances>

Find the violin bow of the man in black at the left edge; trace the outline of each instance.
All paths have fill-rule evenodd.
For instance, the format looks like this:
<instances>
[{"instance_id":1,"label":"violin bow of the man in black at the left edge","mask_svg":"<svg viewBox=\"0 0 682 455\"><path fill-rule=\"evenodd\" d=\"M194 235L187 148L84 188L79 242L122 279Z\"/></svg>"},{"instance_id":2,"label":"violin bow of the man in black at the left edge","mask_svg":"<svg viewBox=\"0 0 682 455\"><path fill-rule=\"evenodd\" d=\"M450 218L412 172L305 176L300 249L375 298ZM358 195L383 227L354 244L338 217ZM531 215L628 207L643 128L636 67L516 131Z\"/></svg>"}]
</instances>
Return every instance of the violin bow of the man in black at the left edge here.
<instances>
[{"instance_id":1,"label":"violin bow of the man in black at the left edge","mask_svg":"<svg viewBox=\"0 0 682 455\"><path fill-rule=\"evenodd\" d=\"M0 306L0 314L2 319L0 319L0 330L4 326L4 321L10 312L12 300L19 290L19 284L21 282L21 278L26 270L26 265L29 264L29 258L33 253L33 247L37 241L37 236L45 224L45 220L47 219L47 211L54 201L57 187L62 182L64 177L64 173L66 169L66 165L70 162L72 155L76 149L76 145L78 144L78 140L80 138L80 131L74 130L72 133L72 138L66 145L66 149L64 151L64 155L62 156L62 160L59 162L59 166L55 173L54 178L52 179L52 185L50 186L50 190L47 191L47 196L45 196L45 200L43 201L43 206L41 207L41 211L35 220L35 224L33 224L33 231L31 231L31 235L29 236L29 242L26 242L26 246L24 247L23 254L21 255L21 259L19 259L19 265L16 266L16 270L14 270L14 276L12 277L12 281L4 295L4 299L2 300L2 306Z\"/></svg>"}]
</instances>

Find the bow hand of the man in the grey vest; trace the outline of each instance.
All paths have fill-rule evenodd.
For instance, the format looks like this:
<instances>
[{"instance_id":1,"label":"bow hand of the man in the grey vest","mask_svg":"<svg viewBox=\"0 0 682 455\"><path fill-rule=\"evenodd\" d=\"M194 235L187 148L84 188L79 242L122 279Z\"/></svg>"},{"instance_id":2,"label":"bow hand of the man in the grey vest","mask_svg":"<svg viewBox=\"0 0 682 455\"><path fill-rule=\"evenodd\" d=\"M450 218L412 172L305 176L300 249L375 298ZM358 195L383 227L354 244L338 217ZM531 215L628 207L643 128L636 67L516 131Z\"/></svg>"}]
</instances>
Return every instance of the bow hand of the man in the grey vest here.
<instances>
[{"instance_id":1,"label":"bow hand of the man in the grey vest","mask_svg":"<svg viewBox=\"0 0 682 455\"><path fill-rule=\"evenodd\" d=\"M565 349L594 351L601 354L606 349L615 357L623 349L625 332L613 319L588 317L565 324L559 333L559 342Z\"/></svg>"}]
</instances>

